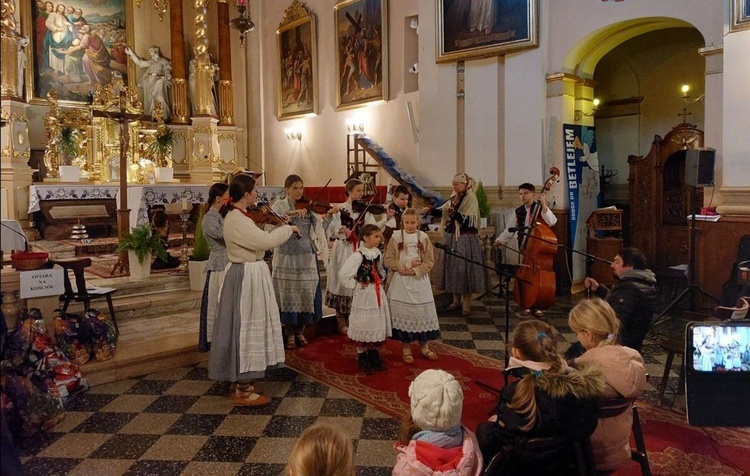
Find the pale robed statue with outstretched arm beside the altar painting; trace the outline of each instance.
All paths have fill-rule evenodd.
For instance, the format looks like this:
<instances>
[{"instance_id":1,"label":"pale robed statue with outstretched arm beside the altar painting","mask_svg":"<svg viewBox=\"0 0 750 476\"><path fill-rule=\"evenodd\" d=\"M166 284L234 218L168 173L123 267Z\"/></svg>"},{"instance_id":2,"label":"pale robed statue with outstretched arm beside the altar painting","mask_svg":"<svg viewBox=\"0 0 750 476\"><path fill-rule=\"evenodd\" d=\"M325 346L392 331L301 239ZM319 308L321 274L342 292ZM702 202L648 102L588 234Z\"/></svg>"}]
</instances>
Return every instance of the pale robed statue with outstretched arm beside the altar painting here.
<instances>
[{"instance_id":1,"label":"pale robed statue with outstretched arm beside the altar painting","mask_svg":"<svg viewBox=\"0 0 750 476\"><path fill-rule=\"evenodd\" d=\"M151 58L141 59L130 48L125 48L125 53L135 64L147 68L138 81L138 86L143 88L143 112L154 117L154 105L161 102L164 105L161 119L168 121L171 116L169 90L172 87L172 62L161 56L158 46L152 46L148 52Z\"/></svg>"}]
</instances>

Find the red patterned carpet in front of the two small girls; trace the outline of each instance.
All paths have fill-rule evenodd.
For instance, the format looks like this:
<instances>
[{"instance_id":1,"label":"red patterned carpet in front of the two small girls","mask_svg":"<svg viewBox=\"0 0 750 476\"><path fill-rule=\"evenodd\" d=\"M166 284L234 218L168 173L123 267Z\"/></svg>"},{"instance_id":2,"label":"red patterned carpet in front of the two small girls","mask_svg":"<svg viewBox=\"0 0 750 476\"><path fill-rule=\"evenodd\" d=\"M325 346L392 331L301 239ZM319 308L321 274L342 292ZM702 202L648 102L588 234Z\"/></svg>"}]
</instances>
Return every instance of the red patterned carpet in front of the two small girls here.
<instances>
[{"instance_id":1,"label":"red patterned carpet in front of the two small girls","mask_svg":"<svg viewBox=\"0 0 750 476\"><path fill-rule=\"evenodd\" d=\"M497 395L477 385L477 380L502 387L502 362L438 342L431 343L430 348L438 354L438 361L425 359L414 345L414 363L407 365L401 359L401 343L389 340L380 349L388 370L366 376L359 372L357 350L347 337L325 336L304 349L287 352L286 364L398 419L409 413L408 392L414 378L426 369L443 369L463 386L463 424L476 428L497 403Z\"/></svg>"}]
</instances>

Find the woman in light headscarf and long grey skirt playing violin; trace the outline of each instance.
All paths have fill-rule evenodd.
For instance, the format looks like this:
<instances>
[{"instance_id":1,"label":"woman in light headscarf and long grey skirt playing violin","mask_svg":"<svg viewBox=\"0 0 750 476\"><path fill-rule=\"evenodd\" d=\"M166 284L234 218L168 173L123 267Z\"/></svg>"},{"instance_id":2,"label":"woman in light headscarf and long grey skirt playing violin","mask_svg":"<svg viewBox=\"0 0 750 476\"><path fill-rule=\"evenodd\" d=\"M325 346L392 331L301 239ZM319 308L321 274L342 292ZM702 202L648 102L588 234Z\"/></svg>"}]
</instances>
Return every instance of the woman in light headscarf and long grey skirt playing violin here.
<instances>
[{"instance_id":1,"label":"woman in light headscarf and long grey skirt playing violin","mask_svg":"<svg viewBox=\"0 0 750 476\"><path fill-rule=\"evenodd\" d=\"M468 316L471 314L472 293L486 292L490 280L486 268L469 262L484 263L484 250L478 230L479 203L474 193L476 183L465 173L454 176L452 183L453 194L450 200L440 208L425 209L425 212L442 217L445 245L461 255L439 254L435 284L453 294L449 311L460 307L461 314Z\"/></svg>"}]
</instances>

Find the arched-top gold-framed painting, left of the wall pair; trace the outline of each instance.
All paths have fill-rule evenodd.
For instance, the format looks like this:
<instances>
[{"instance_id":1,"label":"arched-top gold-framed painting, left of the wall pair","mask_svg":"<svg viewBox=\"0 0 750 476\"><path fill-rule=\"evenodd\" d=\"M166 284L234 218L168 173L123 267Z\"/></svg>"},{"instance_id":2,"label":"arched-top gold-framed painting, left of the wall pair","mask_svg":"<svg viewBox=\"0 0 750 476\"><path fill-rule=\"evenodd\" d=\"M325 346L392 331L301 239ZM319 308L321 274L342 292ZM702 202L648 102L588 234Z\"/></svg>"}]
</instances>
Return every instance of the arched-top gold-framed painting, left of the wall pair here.
<instances>
[{"instance_id":1,"label":"arched-top gold-framed painting, left of the wall pair","mask_svg":"<svg viewBox=\"0 0 750 476\"><path fill-rule=\"evenodd\" d=\"M276 30L279 119L318 113L318 47L315 15L299 0Z\"/></svg>"}]
</instances>

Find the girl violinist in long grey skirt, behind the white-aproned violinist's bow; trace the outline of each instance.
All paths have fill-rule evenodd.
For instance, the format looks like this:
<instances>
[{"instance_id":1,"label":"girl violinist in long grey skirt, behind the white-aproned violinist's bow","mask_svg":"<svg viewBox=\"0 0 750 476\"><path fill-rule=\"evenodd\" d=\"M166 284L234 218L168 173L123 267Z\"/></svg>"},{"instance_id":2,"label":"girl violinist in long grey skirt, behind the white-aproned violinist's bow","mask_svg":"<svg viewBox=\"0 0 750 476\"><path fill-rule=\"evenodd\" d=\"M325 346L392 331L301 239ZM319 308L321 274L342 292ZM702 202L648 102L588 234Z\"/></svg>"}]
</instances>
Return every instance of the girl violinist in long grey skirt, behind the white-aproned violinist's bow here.
<instances>
[{"instance_id":1,"label":"girl violinist in long grey skirt, behind the white-aproned violinist's bow","mask_svg":"<svg viewBox=\"0 0 750 476\"><path fill-rule=\"evenodd\" d=\"M271 269L281 323L286 328L286 348L295 349L307 345L305 325L323 317L317 253L323 250L327 254L328 245L320 217L304 208L295 209L295 203L304 193L302 178L288 176L284 188L286 199L276 201L271 208L288 217L300 229L300 236L290 238L274 250Z\"/></svg>"}]
</instances>

